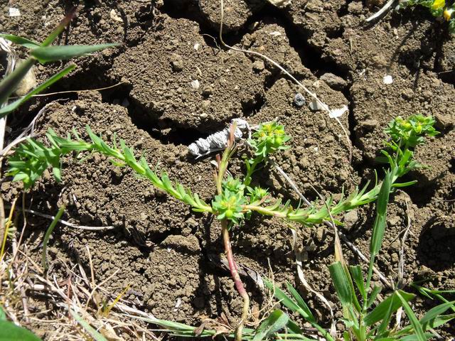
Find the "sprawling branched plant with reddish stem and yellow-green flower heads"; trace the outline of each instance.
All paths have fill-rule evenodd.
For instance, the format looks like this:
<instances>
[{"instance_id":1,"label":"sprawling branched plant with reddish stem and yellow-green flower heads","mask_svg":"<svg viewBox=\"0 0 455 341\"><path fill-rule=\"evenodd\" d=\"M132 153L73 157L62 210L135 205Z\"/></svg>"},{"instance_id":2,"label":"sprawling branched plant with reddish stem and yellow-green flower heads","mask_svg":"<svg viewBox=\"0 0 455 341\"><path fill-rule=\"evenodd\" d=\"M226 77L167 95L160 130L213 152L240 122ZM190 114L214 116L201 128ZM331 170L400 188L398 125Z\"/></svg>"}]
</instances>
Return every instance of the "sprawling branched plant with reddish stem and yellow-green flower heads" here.
<instances>
[{"instance_id":1,"label":"sprawling branched plant with reddish stem and yellow-green flower heads","mask_svg":"<svg viewBox=\"0 0 455 341\"><path fill-rule=\"evenodd\" d=\"M397 120L398 119L395 121ZM407 122L409 122L411 126L417 126L417 123L422 120L425 120L424 117L422 117L422 115L417 115L408 119ZM68 135L68 137L64 139L57 136L54 131L49 130L48 134L46 134L48 141L50 142L49 147L34 139L28 139L26 143L21 144L16 148L13 156L9 157L9 175L13 175L14 180L20 180L23 183L24 188L29 189L41 176L43 171L45 171L46 168L51 167L53 168L55 179L60 181L60 160L63 156L73 152L96 151L108 156L109 161L115 166L129 166L141 177L149 179L156 188L164 190L176 199L186 202L186 204L193 207L193 210L196 212L207 212L218 217L222 225L223 242L231 275L235 281L237 291L244 300L242 320L240 321L240 327L237 329L237 340L240 340L242 337L242 324L247 318L249 297L237 272L237 265L235 264L232 249L230 247L229 231L231 227L235 224L240 224L242 220L248 219L254 212L257 212L260 215L282 218L289 222L299 222L304 227L311 227L314 224L331 221L331 217L348 210L353 210L353 208L360 205L373 202L379 197L377 207L378 217L380 218L375 222L375 232L373 232L373 239L375 241L372 243L371 264L373 264L375 255L378 254L379 251L378 245L382 243L388 195L392 188L403 187L414 183L397 183L397 179L412 169L420 167L420 165L412 159L412 148L423 142L422 137L425 134L436 134L431 130L431 121L422 126L424 128L409 132L409 134L407 134L409 137L407 137L407 142L405 143L403 143L403 138L399 136L400 130L393 130L391 141L387 142L387 146L390 147L390 152L382 151L385 156L385 161L389 163L390 166L386 171L385 180L383 180L382 183L377 183L368 191L367 184L362 190L355 190L336 204L333 204L333 199L329 198L323 205L319 205L318 202L313 202L307 208L297 207L294 209L289 201L282 204L280 200L271 197L267 190L250 186L253 173L255 173L260 164L267 161L267 158L271 153L276 153L285 148L289 148L286 143L289 141L290 137L285 134L284 127L277 124L277 122L261 124L255 134L252 135L252 139L247 141L247 144L252 148L252 156L247 157L245 161L246 175L243 179L225 179L228 163L237 148L233 138L234 129L232 129L233 127L231 128L230 140L228 141L228 146L225 148L223 157L217 156L218 175L216 177L216 188L218 195L215 195L211 205L201 200L197 194L191 193L191 190L184 188L180 183L171 183L171 180L169 180L166 174L159 176L154 173L154 171L151 171L144 156L137 161L133 149L127 147L123 140L120 141L118 146L114 136L114 139L112 139L112 146L109 146L99 136L95 135L89 126L87 126L87 134L90 137L90 142L82 140L75 131L73 131L73 136ZM341 224L340 222L337 223ZM368 285L370 277L369 274L367 281Z\"/></svg>"}]
</instances>

